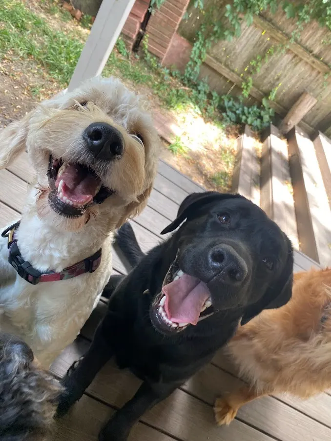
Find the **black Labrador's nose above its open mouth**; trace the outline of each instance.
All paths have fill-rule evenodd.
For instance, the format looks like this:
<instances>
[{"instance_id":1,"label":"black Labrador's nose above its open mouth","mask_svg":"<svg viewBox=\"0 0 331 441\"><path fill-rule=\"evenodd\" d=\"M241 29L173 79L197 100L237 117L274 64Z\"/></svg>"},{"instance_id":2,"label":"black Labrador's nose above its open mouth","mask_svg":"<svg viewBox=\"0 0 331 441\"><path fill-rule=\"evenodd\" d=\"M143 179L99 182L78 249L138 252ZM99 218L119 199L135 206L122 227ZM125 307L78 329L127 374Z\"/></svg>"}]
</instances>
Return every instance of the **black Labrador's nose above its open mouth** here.
<instances>
[{"instance_id":1,"label":"black Labrador's nose above its open mouth","mask_svg":"<svg viewBox=\"0 0 331 441\"><path fill-rule=\"evenodd\" d=\"M248 274L245 260L230 245L216 245L209 251L209 264L213 272L222 275L227 284L240 284Z\"/></svg>"}]
</instances>

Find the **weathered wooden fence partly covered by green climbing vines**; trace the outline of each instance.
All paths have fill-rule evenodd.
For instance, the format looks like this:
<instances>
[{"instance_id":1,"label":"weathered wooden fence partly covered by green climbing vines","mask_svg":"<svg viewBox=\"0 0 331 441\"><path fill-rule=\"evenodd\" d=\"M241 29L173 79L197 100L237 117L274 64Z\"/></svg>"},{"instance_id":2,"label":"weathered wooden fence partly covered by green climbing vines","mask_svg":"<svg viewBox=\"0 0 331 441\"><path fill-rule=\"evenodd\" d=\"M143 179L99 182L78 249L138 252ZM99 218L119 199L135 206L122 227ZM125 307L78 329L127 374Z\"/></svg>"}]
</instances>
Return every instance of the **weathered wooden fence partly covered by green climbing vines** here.
<instances>
[{"instance_id":1,"label":"weathered wooden fence partly covered by green climbing vines","mask_svg":"<svg viewBox=\"0 0 331 441\"><path fill-rule=\"evenodd\" d=\"M205 8L215 1L217 20L224 17L224 7L229 1L205 0ZM169 43L168 55L163 60L165 64L175 64L181 70L185 68L197 29L204 19L193 1L187 8L187 15ZM261 101L278 87L273 105L276 112L284 116L303 92L309 92L317 103L305 116L303 128L310 134L319 129L331 136L331 32L316 22L310 22L305 25L299 41L291 42L295 28L296 20L287 19L281 8L275 15L264 13L255 17L251 26L243 21L239 38L212 45L200 77L207 77L210 87L221 94L239 95L242 81L248 78L250 61L258 55L263 58L273 46L276 50L268 62L262 63L260 71L252 75L251 100ZM280 45L286 49L277 50Z\"/></svg>"}]
</instances>

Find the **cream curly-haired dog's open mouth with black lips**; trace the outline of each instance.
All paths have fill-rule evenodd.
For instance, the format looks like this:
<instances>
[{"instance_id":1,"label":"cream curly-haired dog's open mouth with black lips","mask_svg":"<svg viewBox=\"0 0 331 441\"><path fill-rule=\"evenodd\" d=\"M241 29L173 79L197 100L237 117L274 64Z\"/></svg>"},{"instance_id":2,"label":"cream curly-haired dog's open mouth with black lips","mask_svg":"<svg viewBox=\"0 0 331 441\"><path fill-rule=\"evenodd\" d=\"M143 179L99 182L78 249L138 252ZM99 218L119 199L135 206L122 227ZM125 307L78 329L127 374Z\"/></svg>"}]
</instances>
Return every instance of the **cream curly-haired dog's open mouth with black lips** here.
<instances>
[{"instance_id":1,"label":"cream curly-haired dog's open mouth with black lips","mask_svg":"<svg viewBox=\"0 0 331 441\"><path fill-rule=\"evenodd\" d=\"M95 171L79 163L63 162L49 156L47 171L51 191L48 201L58 214L77 218L87 208L102 203L114 192L104 187Z\"/></svg>"}]
</instances>

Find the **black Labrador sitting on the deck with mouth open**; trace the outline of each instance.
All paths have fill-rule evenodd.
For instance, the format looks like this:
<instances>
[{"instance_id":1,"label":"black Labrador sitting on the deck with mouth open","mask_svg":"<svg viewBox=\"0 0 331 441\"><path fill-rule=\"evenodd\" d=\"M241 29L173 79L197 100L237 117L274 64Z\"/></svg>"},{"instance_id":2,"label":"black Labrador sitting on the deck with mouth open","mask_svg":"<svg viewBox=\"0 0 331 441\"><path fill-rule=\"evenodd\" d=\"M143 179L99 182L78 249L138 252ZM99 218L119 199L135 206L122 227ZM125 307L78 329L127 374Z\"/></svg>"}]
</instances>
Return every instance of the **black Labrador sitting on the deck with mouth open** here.
<instances>
[{"instance_id":1,"label":"black Labrador sitting on the deck with mouth open","mask_svg":"<svg viewBox=\"0 0 331 441\"><path fill-rule=\"evenodd\" d=\"M129 224L120 229L118 243L136 266L110 297L90 349L63 380L58 416L113 356L143 380L101 441L126 440L144 412L210 361L240 322L290 300L291 243L259 207L240 195L196 193L162 233L183 221L147 255ZM111 278L109 289L118 281Z\"/></svg>"}]
</instances>

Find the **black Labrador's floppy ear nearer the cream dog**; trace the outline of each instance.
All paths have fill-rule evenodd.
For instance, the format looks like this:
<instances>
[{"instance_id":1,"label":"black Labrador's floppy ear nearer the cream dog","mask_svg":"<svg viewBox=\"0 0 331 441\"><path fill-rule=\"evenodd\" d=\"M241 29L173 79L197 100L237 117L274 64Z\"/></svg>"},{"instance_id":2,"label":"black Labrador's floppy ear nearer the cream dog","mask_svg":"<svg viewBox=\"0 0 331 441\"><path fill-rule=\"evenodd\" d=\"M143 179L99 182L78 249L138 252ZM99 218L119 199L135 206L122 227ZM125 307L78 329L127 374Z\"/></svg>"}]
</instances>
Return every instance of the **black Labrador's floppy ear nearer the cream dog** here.
<instances>
[{"instance_id":1,"label":"black Labrador's floppy ear nearer the cream dog","mask_svg":"<svg viewBox=\"0 0 331 441\"><path fill-rule=\"evenodd\" d=\"M217 191L206 191L202 193L192 193L186 196L186 198L181 203L177 218L165 227L161 234L170 233L170 231L175 230L185 219L192 218L198 208L214 200L230 199L230 198L244 198L238 194L230 193L218 193Z\"/></svg>"}]
</instances>

